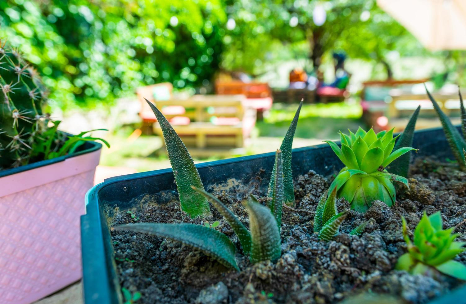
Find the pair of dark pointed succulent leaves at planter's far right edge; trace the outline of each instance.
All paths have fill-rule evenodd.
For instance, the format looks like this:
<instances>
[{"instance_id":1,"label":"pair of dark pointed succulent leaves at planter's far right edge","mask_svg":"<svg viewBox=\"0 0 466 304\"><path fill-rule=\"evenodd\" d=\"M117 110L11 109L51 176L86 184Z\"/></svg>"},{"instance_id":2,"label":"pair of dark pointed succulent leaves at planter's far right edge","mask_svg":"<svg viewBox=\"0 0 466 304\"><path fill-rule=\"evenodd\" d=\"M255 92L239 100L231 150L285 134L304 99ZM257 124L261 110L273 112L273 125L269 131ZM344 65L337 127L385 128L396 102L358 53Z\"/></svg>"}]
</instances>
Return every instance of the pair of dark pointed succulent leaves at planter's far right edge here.
<instances>
[{"instance_id":1,"label":"pair of dark pointed succulent leaves at planter's far right edge","mask_svg":"<svg viewBox=\"0 0 466 304\"><path fill-rule=\"evenodd\" d=\"M427 92L429 99L432 101L435 112L437 112L437 116L439 116L439 120L442 123L443 131L445 132L446 140L448 144L450 145L450 149L452 149L453 155L458 161L459 167L465 170L466 169L466 150L465 150L466 149L466 141L465 141L466 111L463 105L463 96L461 96L461 92L459 92L459 104L461 107L461 131L463 133L462 136L458 132L458 130L453 126L452 122L450 121L450 118L448 118L448 116L445 115L445 113L439 107L439 104L437 103L437 101L435 101L435 99L433 98L429 90L425 88L425 91Z\"/></svg>"}]
</instances>

